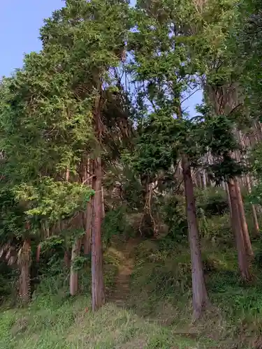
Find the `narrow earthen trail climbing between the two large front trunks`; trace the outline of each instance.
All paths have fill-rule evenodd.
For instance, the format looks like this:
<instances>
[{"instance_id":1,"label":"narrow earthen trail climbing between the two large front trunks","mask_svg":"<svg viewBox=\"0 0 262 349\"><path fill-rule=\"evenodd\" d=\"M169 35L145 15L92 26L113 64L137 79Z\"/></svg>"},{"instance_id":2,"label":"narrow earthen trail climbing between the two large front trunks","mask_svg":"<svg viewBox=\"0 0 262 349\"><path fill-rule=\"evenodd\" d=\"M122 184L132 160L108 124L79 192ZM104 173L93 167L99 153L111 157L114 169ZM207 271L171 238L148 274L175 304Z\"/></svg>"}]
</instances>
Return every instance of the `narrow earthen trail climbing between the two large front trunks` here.
<instances>
[{"instance_id":1,"label":"narrow earthen trail climbing between the two large front trunks","mask_svg":"<svg viewBox=\"0 0 262 349\"><path fill-rule=\"evenodd\" d=\"M129 283L133 272L134 259L133 252L138 246L138 239L129 239L122 250L122 261L119 265L117 279L115 282L115 291L112 292L110 301L119 307L124 307L126 299L129 297Z\"/></svg>"}]
</instances>

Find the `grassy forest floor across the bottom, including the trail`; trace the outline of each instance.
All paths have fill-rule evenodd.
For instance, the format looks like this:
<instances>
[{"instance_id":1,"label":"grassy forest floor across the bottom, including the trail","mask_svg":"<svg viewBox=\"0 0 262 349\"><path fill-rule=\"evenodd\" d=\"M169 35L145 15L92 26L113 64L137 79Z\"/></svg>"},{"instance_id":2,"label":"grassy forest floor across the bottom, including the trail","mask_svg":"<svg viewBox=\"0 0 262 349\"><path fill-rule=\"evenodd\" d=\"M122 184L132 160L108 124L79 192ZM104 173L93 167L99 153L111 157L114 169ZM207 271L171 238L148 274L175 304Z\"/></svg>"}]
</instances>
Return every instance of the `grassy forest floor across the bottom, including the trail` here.
<instances>
[{"instance_id":1,"label":"grassy forest floor across the bottom, including the trail","mask_svg":"<svg viewBox=\"0 0 262 349\"><path fill-rule=\"evenodd\" d=\"M92 313L87 295L36 292L29 307L3 309L0 348L262 348L261 272L254 270L254 284L241 285L233 248L211 245L203 246L203 258L212 308L195 324L188 248L131 239L106 251L103 309Z\"/></svg>"}]
</instances>

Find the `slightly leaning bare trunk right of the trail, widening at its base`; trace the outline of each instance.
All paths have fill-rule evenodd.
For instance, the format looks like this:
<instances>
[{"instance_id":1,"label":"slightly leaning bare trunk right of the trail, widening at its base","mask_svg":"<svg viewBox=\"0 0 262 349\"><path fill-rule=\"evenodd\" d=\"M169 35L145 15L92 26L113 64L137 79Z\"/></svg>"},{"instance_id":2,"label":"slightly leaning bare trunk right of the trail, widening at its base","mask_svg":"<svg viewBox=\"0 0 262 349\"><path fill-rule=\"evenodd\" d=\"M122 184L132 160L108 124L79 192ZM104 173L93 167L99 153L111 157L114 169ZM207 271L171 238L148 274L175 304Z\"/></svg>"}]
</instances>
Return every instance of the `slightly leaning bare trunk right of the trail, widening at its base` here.
<instances>
[{"instance_id":1,"label":"slightly leaning bare trunk right of the trail, widening at its base","mask_svg":"<svg viewBox=\"0 0 262 349\"><path fill-rule=\"evenodd\" d=\"M193 318L197 319L208 304L208 293L205 288L203 262L201 260L201 246L199 242L198 222L196 219L196 203L194 186L191 177L189 161L182 155L184 175L184 190L187 202L187 223L189 228L189 244L191 253L191 274L193 293Z\"/></svg>"}]
</instances>

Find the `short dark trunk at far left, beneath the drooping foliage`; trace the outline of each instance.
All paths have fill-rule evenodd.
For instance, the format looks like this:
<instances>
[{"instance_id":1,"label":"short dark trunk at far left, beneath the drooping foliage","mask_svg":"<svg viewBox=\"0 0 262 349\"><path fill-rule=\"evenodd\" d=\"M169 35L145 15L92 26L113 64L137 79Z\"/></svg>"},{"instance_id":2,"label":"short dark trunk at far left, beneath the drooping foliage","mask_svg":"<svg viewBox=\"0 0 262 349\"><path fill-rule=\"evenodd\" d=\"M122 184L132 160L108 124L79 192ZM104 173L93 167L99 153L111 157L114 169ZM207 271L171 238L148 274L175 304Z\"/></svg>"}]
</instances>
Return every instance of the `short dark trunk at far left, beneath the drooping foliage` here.
<instances>
[{"instance_id":1,"label":"short dark trunk at far left, beneath the drooping foliage","mask_svg":"<svg viewBox=\"0 0 262 349\"><path fill-rule=\"evenodd\" d=\"M20 249L17 261L20 267L19 295L24 304L28 303L30 299L30 261L31 243L29 239L26 239Z\"/></svg>"}]
</instances>

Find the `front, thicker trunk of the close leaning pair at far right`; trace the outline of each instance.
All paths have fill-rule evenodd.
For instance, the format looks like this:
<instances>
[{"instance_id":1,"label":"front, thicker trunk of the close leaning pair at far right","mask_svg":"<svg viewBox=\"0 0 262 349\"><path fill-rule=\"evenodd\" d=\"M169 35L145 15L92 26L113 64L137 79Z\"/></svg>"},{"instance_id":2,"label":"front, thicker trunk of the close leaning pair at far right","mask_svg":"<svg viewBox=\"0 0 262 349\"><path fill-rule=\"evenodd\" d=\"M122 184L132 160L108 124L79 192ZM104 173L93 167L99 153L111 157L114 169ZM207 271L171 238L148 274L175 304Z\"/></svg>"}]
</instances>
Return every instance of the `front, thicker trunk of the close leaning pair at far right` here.
<instances>
[{"instance_id":1,"label":"front, thicker trunk of the close leaning pair at far right","mask_svg":"<svg viewBox=\"0 0 262 349\"><path fill-rule=\"evenodd\" d=\"M235 181L233 179L228 180L228 193L231 199L232 207L232 228L235 235L235 244L238 251L238 267L243 280L248 281L251 279L249 272L249 262L247 258L247 252L245 248L245 241L242 234L242 227L240 223L240 214L238 209L238 193L235 188Z\"/></svg>"}]
</instances>

